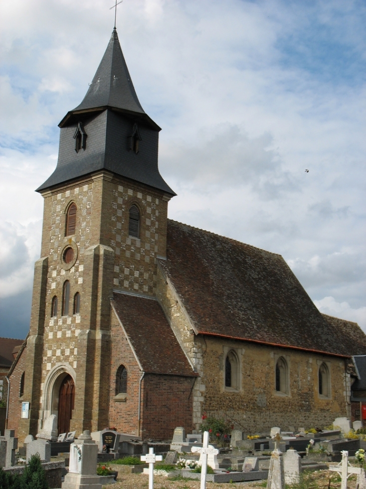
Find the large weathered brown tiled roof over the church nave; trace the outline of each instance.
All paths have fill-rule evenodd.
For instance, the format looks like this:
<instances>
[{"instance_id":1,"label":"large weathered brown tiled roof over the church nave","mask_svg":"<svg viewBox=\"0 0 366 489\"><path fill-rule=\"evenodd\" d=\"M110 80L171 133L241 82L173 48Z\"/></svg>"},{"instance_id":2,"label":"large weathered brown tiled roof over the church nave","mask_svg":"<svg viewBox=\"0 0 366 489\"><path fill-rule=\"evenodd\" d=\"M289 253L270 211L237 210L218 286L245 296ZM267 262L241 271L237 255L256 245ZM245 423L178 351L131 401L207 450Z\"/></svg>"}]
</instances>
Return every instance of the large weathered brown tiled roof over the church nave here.
<instances>
[{"instance_id":1,"label":"large weathered brown tiled roof over the church nave","mask_svg":"<svg viewBox=\"0 0 366 489\"><path fill-rule=\"evenodd\" d=\"M159 264L199 334L344 356L364 344L322 316L278 254L168 220Z\"/></svg>"}]
</instances>

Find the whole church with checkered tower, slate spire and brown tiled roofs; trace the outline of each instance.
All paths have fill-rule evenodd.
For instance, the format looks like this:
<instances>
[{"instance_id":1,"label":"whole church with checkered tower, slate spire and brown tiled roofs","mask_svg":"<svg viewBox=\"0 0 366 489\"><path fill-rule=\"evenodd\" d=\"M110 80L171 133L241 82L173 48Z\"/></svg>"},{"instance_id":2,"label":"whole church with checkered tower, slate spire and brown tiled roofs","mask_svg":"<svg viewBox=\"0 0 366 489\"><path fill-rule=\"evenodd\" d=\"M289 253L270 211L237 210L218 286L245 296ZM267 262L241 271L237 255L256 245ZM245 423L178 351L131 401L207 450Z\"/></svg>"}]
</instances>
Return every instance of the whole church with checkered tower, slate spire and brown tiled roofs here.
<instances>
[{"instance_id":1,"label":"whole church with checkered tower, slate spire and brown tiled roofs","mask_svg":"<svg viewBox=\"0 0 366 489\"><path fill-rule=\"evenodd\" d=\"M37 189L30 331L8 375L20 442L51 414L59 434L154 440L199 429L204 413L248 433L350 416L366 336L322 315L280 255L167 219L160 128L116 29L59 127L57 167Z\"/></svg>"}]
</instances>

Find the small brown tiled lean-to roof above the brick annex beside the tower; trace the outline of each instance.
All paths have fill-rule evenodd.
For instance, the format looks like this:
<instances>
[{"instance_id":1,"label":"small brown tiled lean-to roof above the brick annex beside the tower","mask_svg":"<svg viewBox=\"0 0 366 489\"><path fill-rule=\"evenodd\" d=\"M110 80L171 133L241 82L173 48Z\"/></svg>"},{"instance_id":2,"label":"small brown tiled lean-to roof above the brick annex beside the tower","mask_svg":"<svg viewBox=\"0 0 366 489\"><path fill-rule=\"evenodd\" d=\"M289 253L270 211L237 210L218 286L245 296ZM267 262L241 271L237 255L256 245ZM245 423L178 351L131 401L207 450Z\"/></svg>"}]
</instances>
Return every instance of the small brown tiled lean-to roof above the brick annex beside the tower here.
<instances>
[{"instance_id":1,"label":"small brown tiled lean-to roof above the brick annex beside the tower","mask_svg":"<svg viewBox=\"0 0 366 489\"><path fill-rule=\"evenodd\" d=\"M197 375L156 300L113 292L112 306L145 372Z\"/></svg>"}]
</instances>

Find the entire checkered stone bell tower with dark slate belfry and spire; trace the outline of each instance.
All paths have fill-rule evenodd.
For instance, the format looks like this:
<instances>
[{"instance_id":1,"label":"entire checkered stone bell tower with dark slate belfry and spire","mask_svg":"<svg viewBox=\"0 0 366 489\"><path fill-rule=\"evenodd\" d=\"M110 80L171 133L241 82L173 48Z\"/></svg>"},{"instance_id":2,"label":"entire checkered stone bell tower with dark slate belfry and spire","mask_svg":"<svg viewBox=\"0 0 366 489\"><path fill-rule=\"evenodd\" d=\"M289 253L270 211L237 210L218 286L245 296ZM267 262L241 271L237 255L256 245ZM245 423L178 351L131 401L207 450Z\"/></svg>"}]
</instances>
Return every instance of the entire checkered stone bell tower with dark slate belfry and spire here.
<instances>
[{"instance_id":1,"label":"entire checkered stone bell tower with dark slate belfry and spire","mask_svg":"<svg viewBox=\"0 0 366 489\"><path fill-rule=\"evenodd\" d=\"M84 100L59 127L57 167L37 189L42 250L21 438L51 414L59 433L107 426L112 291L155 294L175 195L157 166L160 128L137 99L115 28Z\"/></svg>"}]
</instances>

